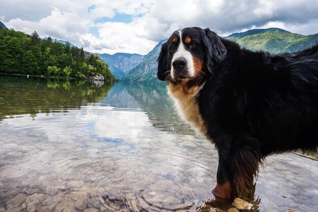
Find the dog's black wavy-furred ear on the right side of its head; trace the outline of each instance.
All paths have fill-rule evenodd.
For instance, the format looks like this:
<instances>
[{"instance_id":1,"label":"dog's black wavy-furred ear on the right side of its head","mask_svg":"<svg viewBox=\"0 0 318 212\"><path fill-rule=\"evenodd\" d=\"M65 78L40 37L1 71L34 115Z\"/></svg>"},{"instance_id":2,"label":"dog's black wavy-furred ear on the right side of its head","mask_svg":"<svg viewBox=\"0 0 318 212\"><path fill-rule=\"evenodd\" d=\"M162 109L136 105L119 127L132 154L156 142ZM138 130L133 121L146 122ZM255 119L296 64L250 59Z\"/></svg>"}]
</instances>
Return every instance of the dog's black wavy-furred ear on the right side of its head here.
<instances>
[{"instance_id":1,"label":"dog's black wavy-furred ear on the right side of its head","mask_svg":"<svg viewBox=\"0 0 318 212\"><path fill-rule=\"evenodd\" d=\"M223 45L220 37L210 31L209 28L204 29L204 32L201 34L201 39L207 53L206 66L209 72L213 74L213 67L224 60L227 49Z\"/></svg>"}]
</instances>

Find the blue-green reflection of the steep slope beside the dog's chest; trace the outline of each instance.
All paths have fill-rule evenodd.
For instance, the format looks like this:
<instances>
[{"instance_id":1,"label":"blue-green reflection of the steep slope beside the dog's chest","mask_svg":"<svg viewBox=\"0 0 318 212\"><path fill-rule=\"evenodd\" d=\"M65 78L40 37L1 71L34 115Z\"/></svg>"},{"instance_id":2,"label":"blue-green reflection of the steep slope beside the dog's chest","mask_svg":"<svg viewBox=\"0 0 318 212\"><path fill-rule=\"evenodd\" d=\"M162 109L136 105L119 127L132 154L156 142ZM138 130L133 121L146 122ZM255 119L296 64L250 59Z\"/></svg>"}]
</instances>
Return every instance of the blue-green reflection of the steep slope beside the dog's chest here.
<instances>
[{"instance_id":1,"label":"blue-green reflection of the steep slope beside the dog's chest","mask_svg":"<svg viewBox=\"0 0 318 212\"><path fill-rule=\"evenodd\" d=\"M180 134L194 134L189 125L180 119L167 94L166 85L122 83L122 86L138 101L155 127Z\"/></svg>"}]
</instances>

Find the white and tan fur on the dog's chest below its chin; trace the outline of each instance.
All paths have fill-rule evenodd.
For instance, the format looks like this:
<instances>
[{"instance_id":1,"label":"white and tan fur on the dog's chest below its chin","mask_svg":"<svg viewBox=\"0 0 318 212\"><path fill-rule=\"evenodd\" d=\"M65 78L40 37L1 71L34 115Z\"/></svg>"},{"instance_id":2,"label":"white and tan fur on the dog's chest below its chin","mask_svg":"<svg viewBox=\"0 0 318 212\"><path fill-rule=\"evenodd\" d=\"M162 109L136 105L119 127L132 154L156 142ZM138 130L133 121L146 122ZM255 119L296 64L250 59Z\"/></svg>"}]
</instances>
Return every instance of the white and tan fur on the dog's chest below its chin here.
<instances>
[{"instance_id":1,"label":"white and tan fur on the dog's chest below its chin","mask_svg":"<svg viewBox=\"0 0 318 212\"><path fill-rule=\"evenodd\" d=\"M197 96L203 85L188 88L186 82L186 80L183 80L180 84L169 83L169 95L174 100L180 116L192 125L199 134L206 136L207 125L200 114L197 103Z\"/></svg>"}]
</instances>

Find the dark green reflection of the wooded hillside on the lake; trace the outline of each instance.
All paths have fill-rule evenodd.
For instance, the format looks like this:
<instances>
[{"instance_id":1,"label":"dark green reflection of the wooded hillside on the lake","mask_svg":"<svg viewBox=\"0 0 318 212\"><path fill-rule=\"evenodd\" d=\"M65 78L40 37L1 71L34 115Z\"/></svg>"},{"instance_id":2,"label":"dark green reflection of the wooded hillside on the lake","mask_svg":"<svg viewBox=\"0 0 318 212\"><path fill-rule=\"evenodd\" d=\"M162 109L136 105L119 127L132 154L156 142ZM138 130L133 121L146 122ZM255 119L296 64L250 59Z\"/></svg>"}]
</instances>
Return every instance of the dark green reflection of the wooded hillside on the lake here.
<instances>
[{"instance_id":1,"label":"dark green reflection of the wooded hillside on the lake","mask_svg":"<svg viewBox=\"0 0 318 212\"><path fill-rule=\"evenodd\" d=\"M80 108L107 96L113 83L0 75L0 118Z\"/></svg>"}]
</instances>

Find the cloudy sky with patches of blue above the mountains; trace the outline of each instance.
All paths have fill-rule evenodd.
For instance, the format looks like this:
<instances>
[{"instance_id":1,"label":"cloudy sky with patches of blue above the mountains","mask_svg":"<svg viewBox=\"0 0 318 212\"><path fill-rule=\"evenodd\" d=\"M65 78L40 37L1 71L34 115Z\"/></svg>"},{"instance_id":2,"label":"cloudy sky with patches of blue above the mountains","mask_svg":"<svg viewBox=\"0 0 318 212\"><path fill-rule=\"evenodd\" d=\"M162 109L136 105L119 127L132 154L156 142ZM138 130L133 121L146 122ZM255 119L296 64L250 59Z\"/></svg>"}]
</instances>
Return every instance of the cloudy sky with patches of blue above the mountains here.
<instances>
[{"instance_id":1,"label":"cloudy sky with patches of blue above the mountains","mask_svg":"<svg viewBox=\"0 0 318 212\"><path fill-rule=\"evenodd\" d=\"M178 28L221 36L280 27L318 33L317 0L0 0L8 28L70 41L90 52L148 53Z\"/></svg>"}]
</instances>

